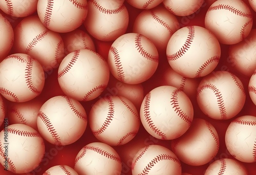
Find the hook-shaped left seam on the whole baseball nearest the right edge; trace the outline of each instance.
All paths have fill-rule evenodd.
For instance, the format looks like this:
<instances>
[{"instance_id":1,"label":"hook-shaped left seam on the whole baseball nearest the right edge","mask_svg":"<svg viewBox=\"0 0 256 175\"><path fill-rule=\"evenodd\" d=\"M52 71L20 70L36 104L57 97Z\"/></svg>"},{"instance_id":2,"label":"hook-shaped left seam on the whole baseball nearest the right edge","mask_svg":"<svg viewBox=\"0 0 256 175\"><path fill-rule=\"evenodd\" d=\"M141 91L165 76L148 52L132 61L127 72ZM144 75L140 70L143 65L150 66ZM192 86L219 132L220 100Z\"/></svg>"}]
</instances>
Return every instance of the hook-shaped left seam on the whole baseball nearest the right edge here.
<instances>
[{"instance_id":1,"label":"hook-shaped left seam on the whole baseball nearest the right edge","mask_svg":"<svg viewBox=\"0 0 256 175\"><path fill-rule=\"evenodd\" d=\"M199 96L199 94L204 89L210 89L210 90L214 91L214 93L215 93L215 95L217 97L217 103L218 103L218 106L219 106L219 110L220 110L220 114L221 114L221 119L226 119L227 118L227 112L226 112L226 108L225 108L225 105L224 105L224 100L223 100L221 92L216 88L215 85L207 83L207 84L202 85L198 89L197 96Z\"/></svg>"}]
</instances>

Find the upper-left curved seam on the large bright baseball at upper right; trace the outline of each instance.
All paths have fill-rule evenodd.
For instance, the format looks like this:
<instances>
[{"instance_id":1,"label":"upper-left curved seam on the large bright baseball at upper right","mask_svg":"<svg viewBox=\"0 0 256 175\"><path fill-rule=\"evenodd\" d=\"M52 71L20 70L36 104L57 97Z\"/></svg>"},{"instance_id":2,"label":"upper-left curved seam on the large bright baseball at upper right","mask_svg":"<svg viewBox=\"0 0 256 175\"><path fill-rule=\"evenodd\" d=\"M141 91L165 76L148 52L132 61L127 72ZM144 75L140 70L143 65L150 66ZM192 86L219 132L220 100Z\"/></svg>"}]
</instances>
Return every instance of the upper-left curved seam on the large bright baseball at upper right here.
<instances>
[{"instance_id":1,"label":"upper-left curved seam on the large bright baseball at upper right","mask_svg":"<svg viewBox=\"0 0 256 175\"><path fill-rule=\"evenodd\" d=\"M193 42L193 39L195 37L195 27L194 26L186 26L186 28L188 29L188 35L187 35L187 39L186 39L184 45L182 46L182 48L180 48L180 50L178 52L176 52L172 55L167 55L168 61L174 61L174 60L180 58L190 48L190 45Z\"/></svg>"}]
</instances>

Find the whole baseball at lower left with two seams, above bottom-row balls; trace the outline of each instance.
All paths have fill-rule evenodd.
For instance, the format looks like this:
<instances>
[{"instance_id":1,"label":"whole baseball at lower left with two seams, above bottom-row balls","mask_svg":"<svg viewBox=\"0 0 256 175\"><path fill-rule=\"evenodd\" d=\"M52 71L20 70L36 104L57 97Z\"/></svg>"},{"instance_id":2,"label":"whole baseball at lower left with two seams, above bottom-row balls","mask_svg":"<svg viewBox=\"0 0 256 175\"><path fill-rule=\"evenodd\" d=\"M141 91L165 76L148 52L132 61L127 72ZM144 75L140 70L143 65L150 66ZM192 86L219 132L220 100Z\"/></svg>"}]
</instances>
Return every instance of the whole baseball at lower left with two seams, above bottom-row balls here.
<instances>
[{"instance_id":1,"label":"whole baseball at lower left with two seams, above bottom-row balls","mask_svg":"<svg viewBox=\"0 0 256 175\"><path fill-rule=\"evenodd\" d=\"M67 96L50 98L41 106L37 116L39 133L54 145L74 143L87 126L87 114L83 106Z\"/></svg>"}]
</instances>

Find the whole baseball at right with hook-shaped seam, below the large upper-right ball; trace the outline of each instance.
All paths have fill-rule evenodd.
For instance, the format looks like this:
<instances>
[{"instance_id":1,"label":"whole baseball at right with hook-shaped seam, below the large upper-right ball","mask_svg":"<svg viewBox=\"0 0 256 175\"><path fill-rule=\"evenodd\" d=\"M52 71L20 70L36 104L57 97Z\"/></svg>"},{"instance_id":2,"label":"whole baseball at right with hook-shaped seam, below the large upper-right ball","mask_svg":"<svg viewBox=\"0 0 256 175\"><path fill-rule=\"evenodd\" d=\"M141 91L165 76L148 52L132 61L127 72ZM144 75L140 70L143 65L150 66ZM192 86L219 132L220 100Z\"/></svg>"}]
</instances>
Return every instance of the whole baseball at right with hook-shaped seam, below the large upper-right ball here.
<instances>
[{"instance_id":1,"label":"whole baseball at right with hook-shaped seam, below the large upper-right ball","mask_svg":"<svg viewBox=\"0 0 256 175\"><path fill-rule=\"evenodd\" d=\"M197 102L210 118L227 120L236 116L245 104L241 80L231 72L214 71L204 77L197 89Z\"/></svg>"}]
</instances>

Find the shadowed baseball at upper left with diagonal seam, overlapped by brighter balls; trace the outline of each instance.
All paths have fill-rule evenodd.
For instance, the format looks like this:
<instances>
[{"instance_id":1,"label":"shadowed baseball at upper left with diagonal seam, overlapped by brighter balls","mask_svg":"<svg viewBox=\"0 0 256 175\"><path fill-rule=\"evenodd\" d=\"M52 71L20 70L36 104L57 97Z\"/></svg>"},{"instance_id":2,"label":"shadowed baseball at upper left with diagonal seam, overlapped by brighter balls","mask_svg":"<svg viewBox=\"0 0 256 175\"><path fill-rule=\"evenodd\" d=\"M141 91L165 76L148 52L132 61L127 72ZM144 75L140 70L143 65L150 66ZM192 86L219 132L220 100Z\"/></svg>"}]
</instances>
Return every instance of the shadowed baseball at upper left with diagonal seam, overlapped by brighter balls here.
<instances>
[{"instance_id":1,"label":"shadowed baseball at upper left with diagonal seam, overlapped by brighter balls","mask_svg":"<svg viewBox=\"0 0 256 175\"><path fill-rule=\"evenodd\" d=\"M61 36L42 25L37 15L23 18L14 29L14 50L40 62L44 71L57 68L64 57Z\"/></svg>"}]
</instances>

